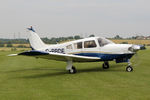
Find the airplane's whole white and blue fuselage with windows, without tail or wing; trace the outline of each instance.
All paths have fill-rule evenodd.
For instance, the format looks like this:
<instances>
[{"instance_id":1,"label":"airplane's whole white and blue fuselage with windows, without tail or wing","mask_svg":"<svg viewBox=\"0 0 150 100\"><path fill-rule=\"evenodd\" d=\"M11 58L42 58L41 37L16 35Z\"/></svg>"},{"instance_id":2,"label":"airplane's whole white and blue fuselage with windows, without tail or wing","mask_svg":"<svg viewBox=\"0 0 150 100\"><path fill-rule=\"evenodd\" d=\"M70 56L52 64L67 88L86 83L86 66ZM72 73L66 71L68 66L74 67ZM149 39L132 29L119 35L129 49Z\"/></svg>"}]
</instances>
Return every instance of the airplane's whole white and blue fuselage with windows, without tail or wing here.
<instances>
[{"instance_id":1,"label":"airplane's whole white and blue fuselage with windows, without tail or wing","mask_svg":"<svg viewBox=\"0 0 150 100\"><path fill-rule=\"evenodd\" d=\"M129 50L131 46L132 44L115 44L102 37L91 37L62 44L47 45L40 51L99 57L101 61L111 61L122 58L130 59L134 55Z\"/></svg>"}]
</instances>

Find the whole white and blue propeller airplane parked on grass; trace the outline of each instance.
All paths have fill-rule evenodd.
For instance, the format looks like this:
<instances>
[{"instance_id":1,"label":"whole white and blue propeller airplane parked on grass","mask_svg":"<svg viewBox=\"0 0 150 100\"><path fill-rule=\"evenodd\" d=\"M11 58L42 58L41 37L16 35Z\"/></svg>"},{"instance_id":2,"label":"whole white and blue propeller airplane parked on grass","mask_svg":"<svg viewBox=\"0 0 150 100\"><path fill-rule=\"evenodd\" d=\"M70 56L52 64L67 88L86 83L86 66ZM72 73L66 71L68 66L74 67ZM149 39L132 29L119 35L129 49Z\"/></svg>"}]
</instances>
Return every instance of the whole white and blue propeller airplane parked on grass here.
<instances>
[{"instance_id":1,"label":"whole white and blue propeller airplane parked on grass","mask_svg":"<svg viewBox=\"0 0 150 100\"><path fill-rule=\"evenodd\" d=\"M76 73L73 62L100 62L103 61L103 69L109 68L109 61L116 63L127 62L127 72L133 71L130 63L131 57L140 50L140 46L133 44L115 44L103 37L90 37L62 44L48 45L43 43L32 28L29 30L29 42L32 50L15 55L33 56L57 61L67 62L66 69L69 73Z\"/></svg>"}]
</instances>

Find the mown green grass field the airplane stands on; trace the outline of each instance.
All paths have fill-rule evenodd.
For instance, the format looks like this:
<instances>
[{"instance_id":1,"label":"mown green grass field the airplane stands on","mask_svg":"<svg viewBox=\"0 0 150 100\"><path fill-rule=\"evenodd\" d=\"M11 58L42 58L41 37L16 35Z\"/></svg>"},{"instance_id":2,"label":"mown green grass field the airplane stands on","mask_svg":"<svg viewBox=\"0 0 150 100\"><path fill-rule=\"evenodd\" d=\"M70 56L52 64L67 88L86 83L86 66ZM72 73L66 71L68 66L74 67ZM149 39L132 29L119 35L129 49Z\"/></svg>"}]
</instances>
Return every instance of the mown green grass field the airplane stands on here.
<instances>
[{"instance_id":1,"label":"mown green grass field the airplane stands on","mask_svg":"<svg viewBox=\"0 0 150 100\"><path fill-rule=\"evenodd\" d=\"M32 57L7 57L0 52L0 100L150 100L150 48L138 53L134 71L127 64L66 63ZM133 58L135 60L135 58Z\"/></svg>"}]
</instances>

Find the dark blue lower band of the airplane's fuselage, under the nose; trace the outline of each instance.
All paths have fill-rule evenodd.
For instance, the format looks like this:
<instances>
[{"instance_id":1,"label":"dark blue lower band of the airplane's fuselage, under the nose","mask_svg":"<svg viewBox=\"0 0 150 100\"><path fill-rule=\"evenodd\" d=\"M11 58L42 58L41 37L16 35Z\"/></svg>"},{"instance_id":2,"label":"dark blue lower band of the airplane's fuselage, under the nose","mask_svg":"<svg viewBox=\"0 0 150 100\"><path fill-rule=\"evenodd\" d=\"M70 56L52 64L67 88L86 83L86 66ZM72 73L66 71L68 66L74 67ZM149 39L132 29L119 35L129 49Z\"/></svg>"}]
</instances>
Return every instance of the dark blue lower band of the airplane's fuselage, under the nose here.
<instances>
[{"instance_id":1,"label":"dark blue lower band of the airplane's fuselage, under the nose","mask_svg":"<svg viewBox=\"0 0 150 100\"><path fill-rule=\"evenodd\" d=\"M130 59L134 54L104 54L104 53L79 53L75 55L88 56L88 57L99 57L102 61L111 61L114 59Z\"/></svg>"}]
</instances>

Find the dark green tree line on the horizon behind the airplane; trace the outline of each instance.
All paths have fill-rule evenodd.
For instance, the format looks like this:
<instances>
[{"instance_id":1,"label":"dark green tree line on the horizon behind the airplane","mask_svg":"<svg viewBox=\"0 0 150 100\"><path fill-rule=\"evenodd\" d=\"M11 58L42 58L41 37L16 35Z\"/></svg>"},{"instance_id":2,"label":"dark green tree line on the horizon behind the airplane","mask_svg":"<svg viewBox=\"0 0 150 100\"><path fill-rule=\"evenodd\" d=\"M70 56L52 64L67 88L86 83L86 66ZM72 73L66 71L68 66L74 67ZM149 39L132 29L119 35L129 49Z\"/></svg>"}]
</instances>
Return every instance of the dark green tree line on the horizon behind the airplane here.
<instances>
[{"instance_id":1,"label":"dark green tree line on the horizon behind the airplane","mask_svg":"<svg viewBox=\"0 0 150 100\"><path fill-rule=\"evenodd\" d=\"M95 37L94 34L89 35L89 37ZM130 38L122 38L119 35L116 35L113 38L109 39L137 39L139 36L132 36ZM57 43L62 43L65 41L72 41L72 40L78 40L82 39L80 35L75 35L75 36L68 36L68 37L52 37L52 38L41 38L44 43L47 44L57 44ZM0 47L12 47L12 44L29 44L28 39L0 39ZM24 47L24 45L18 45L19 48Z\"/></svg>"}]
</instances>

